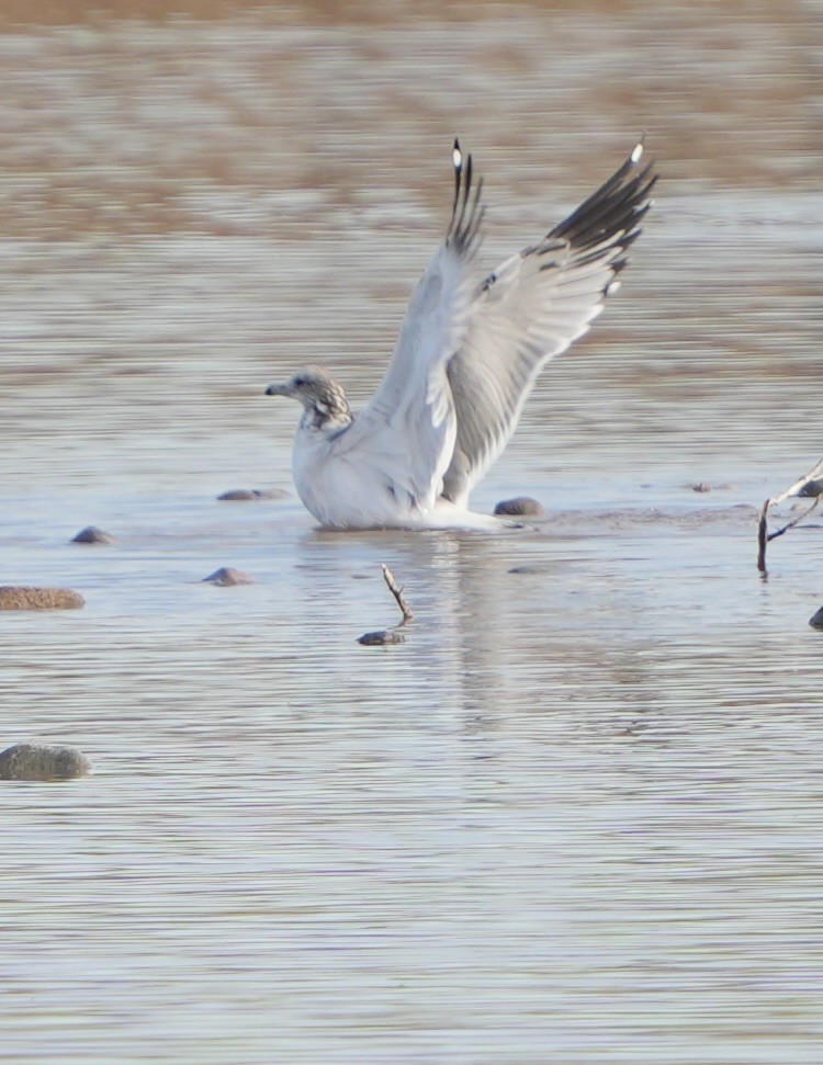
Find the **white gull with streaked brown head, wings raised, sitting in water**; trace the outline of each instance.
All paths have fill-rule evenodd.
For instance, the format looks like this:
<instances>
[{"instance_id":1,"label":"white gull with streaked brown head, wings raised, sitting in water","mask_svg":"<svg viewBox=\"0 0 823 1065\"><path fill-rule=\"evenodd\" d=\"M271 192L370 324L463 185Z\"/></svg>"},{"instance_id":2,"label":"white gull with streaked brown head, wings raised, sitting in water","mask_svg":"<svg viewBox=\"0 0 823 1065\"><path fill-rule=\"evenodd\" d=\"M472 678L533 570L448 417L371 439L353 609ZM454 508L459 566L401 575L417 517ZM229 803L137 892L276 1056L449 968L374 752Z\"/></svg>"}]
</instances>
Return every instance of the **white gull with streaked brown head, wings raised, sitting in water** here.
<instances>
[{"instance_id":1,"label":"white gull with streaked brown head, wings raised, sitting in water","mask_svg":"<svg viewBox=\"0 0 823 1065\"><path fill-rule=\"evenodd\" d=\"M643 143L545 237L477 282L483 181L455 140L446 237L415 288L374 398L353 415L319 366L269 396L303 406L297 494L335 529L488 529L469 494L501 454L543 366L582 337L619 286L656 181Z\"/></svg>"}]
</instances>

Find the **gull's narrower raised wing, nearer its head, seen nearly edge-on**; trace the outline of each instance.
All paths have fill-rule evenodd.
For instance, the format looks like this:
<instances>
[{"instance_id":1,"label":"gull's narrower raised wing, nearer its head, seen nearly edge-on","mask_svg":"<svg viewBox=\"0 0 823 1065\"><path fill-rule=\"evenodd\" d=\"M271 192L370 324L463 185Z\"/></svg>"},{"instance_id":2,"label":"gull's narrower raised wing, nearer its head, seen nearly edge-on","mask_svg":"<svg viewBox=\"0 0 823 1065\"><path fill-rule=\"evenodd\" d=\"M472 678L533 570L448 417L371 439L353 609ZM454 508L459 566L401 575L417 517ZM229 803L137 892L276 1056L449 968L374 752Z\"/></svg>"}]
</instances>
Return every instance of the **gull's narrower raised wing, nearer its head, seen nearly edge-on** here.
<instances>
[{"instance_id":1,"label":"gull's narrower raised wing, nearer its head, seen nearly edge-on","mask_svg":"<svg viewBox=\"0 0 823 1065\"><path fill-rule=\"evenodd\" d=\"M369 406L340 438L338 453L374 456L395 491L429 509L451 461L456 421L447 377L460 348L473 292L469 267L480 242L482 180L454 141L454 203L446 239L415 290L385 376ZM371 457L369 457L371 461Z\"/></svg>"}]
</instances>

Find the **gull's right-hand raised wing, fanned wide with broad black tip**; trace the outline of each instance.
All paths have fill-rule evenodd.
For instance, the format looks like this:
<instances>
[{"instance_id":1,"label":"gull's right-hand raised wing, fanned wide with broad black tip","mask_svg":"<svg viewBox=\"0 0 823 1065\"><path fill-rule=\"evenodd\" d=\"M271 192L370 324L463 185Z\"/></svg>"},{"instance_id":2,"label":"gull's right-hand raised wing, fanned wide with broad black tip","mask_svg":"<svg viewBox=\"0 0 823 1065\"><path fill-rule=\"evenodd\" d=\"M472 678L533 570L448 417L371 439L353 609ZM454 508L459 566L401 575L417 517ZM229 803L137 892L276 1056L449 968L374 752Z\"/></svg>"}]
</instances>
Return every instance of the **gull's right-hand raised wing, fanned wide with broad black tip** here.
<instances>
[{"instance_id":1,"label":"gull's right-hand raised wing, fanned wide with broad black tip","mask_svg":"<svg viewBox=\"0 0 823 1065\"><path fill-rule=\"evenodd\" d=\"M585 333L616 290L656 181L636 145L623 166L533 248L507 259L475 292L447 374L458 437L443 496L465 506L506 446L534 381Z\"/></svg>"}]
</instances>

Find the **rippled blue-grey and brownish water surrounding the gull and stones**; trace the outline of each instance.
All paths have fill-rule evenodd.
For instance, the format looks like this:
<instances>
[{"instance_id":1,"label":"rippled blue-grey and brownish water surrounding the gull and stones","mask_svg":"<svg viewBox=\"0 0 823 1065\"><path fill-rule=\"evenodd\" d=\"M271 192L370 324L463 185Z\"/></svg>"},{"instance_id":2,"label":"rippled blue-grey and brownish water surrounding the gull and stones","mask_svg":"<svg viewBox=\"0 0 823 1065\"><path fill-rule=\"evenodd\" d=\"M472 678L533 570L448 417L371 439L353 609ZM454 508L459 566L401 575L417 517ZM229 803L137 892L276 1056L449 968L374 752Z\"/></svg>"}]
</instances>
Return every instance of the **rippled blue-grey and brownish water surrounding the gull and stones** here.
<instances>
[{"instance_id":1,"label":"rippled blue-grey and brownish water surrounding the gull and stones","mask_svg":"<svg viewBox=\"0 0 823 1065\"><path fill-rule=\"evenodd\" d=\"M819 8L182 10L0 34L0 580L87 599L0 614L0 747L94 766L0 789L0 1061L816 1065L821 532L763 581L755 514L821 455ZM474 497L544 524L216 501L291 490L270 381L368 399L455 132L494 264L642 128Z\"/></svg>"}]
</instances>

